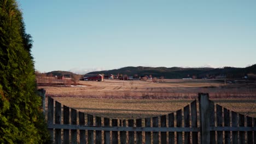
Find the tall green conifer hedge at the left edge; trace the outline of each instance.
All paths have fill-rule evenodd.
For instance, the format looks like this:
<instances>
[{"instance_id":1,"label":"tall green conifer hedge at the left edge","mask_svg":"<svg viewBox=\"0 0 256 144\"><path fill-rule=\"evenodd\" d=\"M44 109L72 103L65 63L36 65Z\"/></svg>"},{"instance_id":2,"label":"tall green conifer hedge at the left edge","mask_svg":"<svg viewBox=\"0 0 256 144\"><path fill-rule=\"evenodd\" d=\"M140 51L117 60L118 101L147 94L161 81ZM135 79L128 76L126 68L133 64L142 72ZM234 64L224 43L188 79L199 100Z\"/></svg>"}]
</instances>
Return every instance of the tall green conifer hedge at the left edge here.
<instances>
[{"instance_id":1,"label":"tall green conifer hedge at the left edge","mask_svg":"<svg viewBox=\"0 0 256 144\"><path fill-rule=\"evenodd\" d=\"M0 1L0 143L49 143L31 35L14 0Z\"/></svg>"}]
</instances>

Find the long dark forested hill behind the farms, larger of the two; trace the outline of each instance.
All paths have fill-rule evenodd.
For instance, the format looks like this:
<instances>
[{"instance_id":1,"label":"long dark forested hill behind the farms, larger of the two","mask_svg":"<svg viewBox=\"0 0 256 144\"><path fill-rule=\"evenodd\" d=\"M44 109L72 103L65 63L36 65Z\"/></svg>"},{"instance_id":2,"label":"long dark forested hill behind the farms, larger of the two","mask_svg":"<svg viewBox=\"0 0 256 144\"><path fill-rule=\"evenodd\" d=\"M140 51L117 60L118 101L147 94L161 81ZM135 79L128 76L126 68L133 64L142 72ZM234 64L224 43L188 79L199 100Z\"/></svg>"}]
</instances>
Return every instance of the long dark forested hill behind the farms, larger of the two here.
<instances>
[{"instance_id":1,"label":"long dark forested hill behind the farms, larger of the two","mask_svg":"<svg viewBox=\"0 0 256 144\"><path fill-rule=\"evenodd\" d=\"M256 64L247 68L180 68L180 67L124 67L113 70L93 71L88 74L126 74L126 75L152 75L153 77L164 76L166 79L181 79L187 76L196 76L197 78L207 77L211 75L225 75L228 78L241 78L249 73L256 74Z\"/></svg>"}]
</instances>

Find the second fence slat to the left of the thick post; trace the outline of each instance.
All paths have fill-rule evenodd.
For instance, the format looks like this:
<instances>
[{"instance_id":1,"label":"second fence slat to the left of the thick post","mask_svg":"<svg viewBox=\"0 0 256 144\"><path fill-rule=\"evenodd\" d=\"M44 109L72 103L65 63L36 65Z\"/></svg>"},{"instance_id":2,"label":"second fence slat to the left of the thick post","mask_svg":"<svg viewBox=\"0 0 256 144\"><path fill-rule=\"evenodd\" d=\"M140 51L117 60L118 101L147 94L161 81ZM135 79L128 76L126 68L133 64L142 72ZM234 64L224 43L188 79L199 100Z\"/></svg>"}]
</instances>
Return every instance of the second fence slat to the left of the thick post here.
<instances>
[{"instance_id":1,"label":"second fence slat to the left of the thick post","mask_svg":"<svg viewBox=\"0 0 256 144\"><path fill-rule=\"evenodd\" d=\"M184 127L190 127L189 105L184 107ZM190 143L190 132L184 133L184 143Z\"/></svg>"}]
</instances>

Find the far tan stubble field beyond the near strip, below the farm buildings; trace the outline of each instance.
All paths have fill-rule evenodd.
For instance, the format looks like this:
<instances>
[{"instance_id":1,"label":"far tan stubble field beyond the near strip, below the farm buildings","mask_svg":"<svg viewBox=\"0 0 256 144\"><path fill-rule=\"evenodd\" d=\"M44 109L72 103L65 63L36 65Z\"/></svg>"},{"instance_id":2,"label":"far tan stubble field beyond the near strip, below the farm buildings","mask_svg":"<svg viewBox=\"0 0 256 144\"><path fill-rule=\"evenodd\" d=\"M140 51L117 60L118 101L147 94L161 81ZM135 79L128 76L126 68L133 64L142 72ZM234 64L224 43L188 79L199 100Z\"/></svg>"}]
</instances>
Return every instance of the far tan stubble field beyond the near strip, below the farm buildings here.
<instances>
[{"instance_id":1,"label":"far tan stubble field beyond the near strip, below the farm buildings","mask_svg":"<svg viewBox=\"0 0 256 144\"><path fill-rule=\"evenodd\" d=\"M121 98L121 99L181 99L196 98L197 93L209 93L211 98L245 97L254 98L256 85L226 84L216 80L163 80L120 81L104 80L79 81L80 86L40 86L46 94L54 97L80 98Z\"/></svg>"}]
</instances>

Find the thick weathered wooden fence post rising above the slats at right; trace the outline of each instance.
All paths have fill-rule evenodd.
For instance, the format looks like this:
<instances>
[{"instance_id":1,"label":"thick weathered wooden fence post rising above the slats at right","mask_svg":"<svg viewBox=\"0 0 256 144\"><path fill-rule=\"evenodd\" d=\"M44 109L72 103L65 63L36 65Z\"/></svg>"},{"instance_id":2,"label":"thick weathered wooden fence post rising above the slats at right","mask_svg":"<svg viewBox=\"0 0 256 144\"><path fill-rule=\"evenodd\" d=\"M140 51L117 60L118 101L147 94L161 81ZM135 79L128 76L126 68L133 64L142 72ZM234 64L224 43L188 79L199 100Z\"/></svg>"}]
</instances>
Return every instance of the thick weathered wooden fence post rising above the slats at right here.
<instances>
[{"instance_id":1,"label":"thick weathered wooden fence post rising above the slats at right","mask_svg":"<svg viewBox=\"0 0 256 144\"><path fill-rule=\"evenodd\" d=\"M199 93L200 111L200 140L201 143L210 143L210 100L208 93Z\"/></svg>"}]
</instances>

